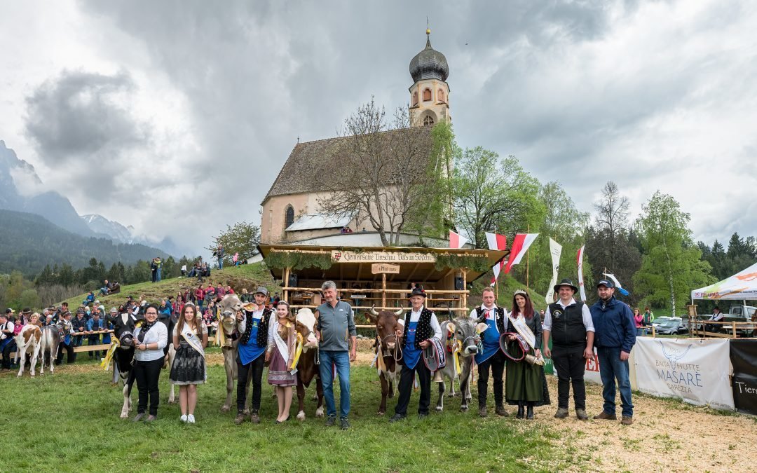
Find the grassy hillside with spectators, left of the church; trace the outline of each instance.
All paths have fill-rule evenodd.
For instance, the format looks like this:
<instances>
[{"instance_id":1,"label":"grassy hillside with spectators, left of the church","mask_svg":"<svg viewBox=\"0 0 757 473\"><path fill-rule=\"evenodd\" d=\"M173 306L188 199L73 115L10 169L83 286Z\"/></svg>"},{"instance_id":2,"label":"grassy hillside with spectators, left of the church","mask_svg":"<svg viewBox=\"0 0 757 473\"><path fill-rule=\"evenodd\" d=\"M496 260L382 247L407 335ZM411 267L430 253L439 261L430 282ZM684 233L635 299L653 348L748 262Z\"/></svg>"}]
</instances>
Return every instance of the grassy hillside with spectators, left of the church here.
<instances>
[{"instance_id":1,"label":"grassy hillside with spectators, left of the church","mask_svg":"<svg viewBox=\"0 0 757 473\"><path fill-rule=\"evenodd\" d=\"M222 271L214 270L210 273L210 278L204 279L204 285L207 286L208 282L213 282L213 285L217 283L229 284L235 291L241 294L242 288L247 288L248 291L253 291L259 285L266 286L269 291L280 291L280 287L273 284L271 274L262 263L243 264L241 266L232 266L225 268ZM139 299L140 294L145 294L145 297L151 302L160 302L160 298L168 297L170 295L176 296L176 293L183 291L185 288L197 288L197 278L172 278L163 279L160 282L140 282L138 284L123 285L121 291L118 294L111 296L101 296L95 292L95 296L98 297L101 303L107 309L111 307L117 307L120 304L126 302L126 297L133 296ZM86 294L79 294L76 297L67 299L68 307L76 308L86 298Z\"/></svg>"}]
</instances>

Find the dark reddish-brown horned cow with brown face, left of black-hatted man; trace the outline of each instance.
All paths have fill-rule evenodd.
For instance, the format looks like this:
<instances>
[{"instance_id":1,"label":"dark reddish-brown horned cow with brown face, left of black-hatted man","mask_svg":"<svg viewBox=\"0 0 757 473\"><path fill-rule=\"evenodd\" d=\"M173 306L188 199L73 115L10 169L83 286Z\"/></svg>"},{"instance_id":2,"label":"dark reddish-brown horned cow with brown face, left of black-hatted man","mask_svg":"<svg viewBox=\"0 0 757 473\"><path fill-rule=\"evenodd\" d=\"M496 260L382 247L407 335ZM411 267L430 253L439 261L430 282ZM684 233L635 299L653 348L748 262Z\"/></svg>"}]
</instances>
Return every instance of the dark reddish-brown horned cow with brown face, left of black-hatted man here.
<instances>
[{"instance_id":1,"label":"dark reddish-brown horned cow with brown face, left of black-hatted man","mask_svg":"<svg viewBox=\"0 0 757 473\"><path fill-rule=\"evenodd\" d=\"M402 314L402 309L397 312L382 310L376 312L371 307L370 313L366 313L366 319L376 325L375 363L378 369L378 378L381 380L381 405L378 406L378 415L386 412L386 398L394 397L394 390L399 381L400 363L402 350L394 333L402 329L402 319L397 319ZM378 353L381 355L378 355Z\"/></svg>"}]
</instances>

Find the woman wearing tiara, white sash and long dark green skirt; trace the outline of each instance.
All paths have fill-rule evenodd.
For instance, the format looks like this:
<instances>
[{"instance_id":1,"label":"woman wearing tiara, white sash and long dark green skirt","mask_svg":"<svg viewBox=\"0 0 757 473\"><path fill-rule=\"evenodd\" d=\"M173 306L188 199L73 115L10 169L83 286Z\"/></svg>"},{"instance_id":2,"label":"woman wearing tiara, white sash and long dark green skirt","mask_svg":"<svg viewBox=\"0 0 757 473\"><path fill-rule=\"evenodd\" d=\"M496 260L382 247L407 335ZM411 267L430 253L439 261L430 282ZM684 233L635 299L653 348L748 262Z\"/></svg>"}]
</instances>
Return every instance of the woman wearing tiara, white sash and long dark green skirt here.
<instances>
[{"instance_id":1,"label":"woman wearing tiara, white sash and long dark green skirt","mask_svg":"<svg viewBox=\"0 0 757 473\"><path fill-rule=\"evenodd\" d=\"M537 363L531 364L525 356L520 361L513 358L522 356L520 342L516 338L516 328L512 320L522 319L525 325L534 333L536 343L534 347L528 347L526 355L541 357L541 317L534 312L531 298L528 293L519 289L512 297L512 313L507 322L507 352L509 353L506 365L505 397L507 403L518 406L516 419L534 419L534 406L544 406L550 403L550 394L547 391L547 379L544 377L544 366ZM524 409L525 408L525 409ZM524 410L525 415L524 415Z\"/></svg>"}]
</instances>

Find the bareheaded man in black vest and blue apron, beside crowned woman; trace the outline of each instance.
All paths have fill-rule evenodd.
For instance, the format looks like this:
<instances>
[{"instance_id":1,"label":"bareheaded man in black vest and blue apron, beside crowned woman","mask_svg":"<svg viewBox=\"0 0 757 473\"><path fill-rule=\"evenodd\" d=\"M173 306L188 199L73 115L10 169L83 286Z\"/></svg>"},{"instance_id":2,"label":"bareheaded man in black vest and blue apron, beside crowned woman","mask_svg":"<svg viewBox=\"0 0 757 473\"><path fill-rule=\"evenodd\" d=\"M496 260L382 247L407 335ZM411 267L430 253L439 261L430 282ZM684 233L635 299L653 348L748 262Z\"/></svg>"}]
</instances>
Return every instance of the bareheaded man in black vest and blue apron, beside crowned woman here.
<instances>
[{"instance_id":1,"label":"bareheaded man in black vest and blue apron, beside crowned woman","mask_svg":"<svg viewBox=\"0 0 757 473\"><path fill-rule=\"evenodd\" d=\"M502 375L505 370L505 355L500 350L500 335L505 333L505 319L507 313L504 307L497 307L494 303L494 289L484 288L481 293L481 307L471 311L471 319L475 322L485 322L487 329L481 334L482 353L477 353L475 363L478 365L478 415L486 417L486 394L489 382L489 368L494 378L494 412L497 415L507 415L502 395Z\"/></svg>"}]
</instances>

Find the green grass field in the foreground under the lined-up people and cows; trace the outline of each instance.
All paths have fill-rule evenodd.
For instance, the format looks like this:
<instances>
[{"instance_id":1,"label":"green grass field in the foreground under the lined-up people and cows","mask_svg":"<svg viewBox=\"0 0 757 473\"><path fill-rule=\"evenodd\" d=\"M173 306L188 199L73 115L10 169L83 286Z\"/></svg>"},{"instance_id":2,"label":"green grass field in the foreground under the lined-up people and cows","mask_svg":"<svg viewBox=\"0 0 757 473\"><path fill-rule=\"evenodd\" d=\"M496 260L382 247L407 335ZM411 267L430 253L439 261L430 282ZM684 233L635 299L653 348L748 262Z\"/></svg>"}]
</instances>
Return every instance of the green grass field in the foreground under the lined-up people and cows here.
<instances>
[{"instance_id":1,"label":"green grass field in the foreground under the lined-up people and cows","mask_svg":"<svg viewBox=\"0 0 757 473\"><path fill-rule=\"evenodd\" d=\"M413 394L409 410L413 415L389 424L387 417L375 415L380 387L375 371L367 366L353 369L352 428L340 431L324 427L323 419L313 416L310 395L308 419L302 423L294 419L295 404L291 421L274 425L276 400L269 396L267 384L263 422L233 425L235 414L220 412L225 398L222 366L210 366L208 384L198 389L197 424L180 423L179 407L167 404L165 371L157 422L134 424L118 417L122 397L117 387L111 387L111 373L95 371L91 363L80 364L63 367L54 376L0 378L3 431L9 440L0 469L556 471L579 462L575 453L552 447L559 433L542 423L496 416L480 419L473 410L459 412L459 399L447 401L446 412L432 412L419 420L414 414L418 394ZM389 400L390 410L394 403ZM547 410L551 415L551 407L537 409L537 417L547 416Z\"/></svg>"}]
</instances>

